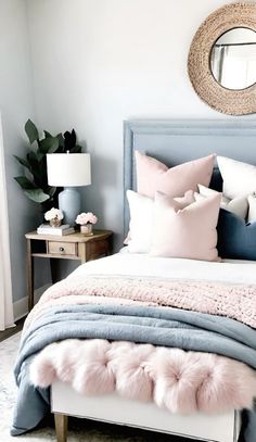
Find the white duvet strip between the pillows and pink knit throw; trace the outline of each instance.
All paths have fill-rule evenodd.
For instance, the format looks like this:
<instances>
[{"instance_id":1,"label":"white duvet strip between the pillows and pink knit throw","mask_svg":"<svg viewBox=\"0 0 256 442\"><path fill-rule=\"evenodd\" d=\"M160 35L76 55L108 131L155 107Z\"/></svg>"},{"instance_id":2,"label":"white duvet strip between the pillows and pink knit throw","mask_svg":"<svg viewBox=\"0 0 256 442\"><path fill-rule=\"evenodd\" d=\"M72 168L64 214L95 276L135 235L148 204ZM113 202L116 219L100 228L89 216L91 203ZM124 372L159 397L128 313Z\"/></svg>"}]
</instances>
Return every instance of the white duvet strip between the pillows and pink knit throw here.
<instances>
[{"instance_id":1,"label":"white duvet strip between the pillows and pink knit throw","mask_svg":"<svg viewBox=\"0 0 256 442\"><path fill-rule=\"evenodd\" d=\"M123 275L256 285L256 262L226 260L220 263L120 253L79 266L74 275Z\"/></svg>"}]
</instances>

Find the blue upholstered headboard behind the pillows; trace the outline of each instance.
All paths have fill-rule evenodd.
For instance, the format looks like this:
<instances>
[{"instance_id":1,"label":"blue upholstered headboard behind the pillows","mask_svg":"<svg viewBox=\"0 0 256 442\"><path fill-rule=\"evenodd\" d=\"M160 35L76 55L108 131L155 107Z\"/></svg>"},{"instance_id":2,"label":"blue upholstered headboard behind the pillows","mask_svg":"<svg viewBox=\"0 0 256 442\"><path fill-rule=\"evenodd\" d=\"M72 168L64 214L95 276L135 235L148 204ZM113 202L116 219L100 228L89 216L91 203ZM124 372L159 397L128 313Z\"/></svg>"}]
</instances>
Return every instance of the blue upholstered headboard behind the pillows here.
<instances>
[{"instance_id":1,"label":"blue upholstered headboard behind the pillows","mask_svg":"<svg viewBox=\"0 0 256 442\"><path fill-rule=\"evenodd\" d=\"M136 190L135 150L168 166L209 153L256 164L256 121L133 119L124 123L124 192ZM124 195L124 227L129 207Z\"/></svg>"}]
</instances>

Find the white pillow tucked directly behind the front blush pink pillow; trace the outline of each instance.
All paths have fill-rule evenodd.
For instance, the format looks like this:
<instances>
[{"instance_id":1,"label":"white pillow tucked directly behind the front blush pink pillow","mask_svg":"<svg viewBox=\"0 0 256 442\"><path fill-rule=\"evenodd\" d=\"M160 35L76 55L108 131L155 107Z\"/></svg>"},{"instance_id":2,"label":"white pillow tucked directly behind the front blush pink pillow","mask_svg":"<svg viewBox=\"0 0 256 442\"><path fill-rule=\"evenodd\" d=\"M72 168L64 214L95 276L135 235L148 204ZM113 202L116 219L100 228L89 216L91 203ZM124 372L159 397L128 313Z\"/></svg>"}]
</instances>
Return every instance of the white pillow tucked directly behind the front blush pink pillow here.
<instances>
[{"instance_id":1,"label":"white pillow tucked directly behind the front blush pink pillow","mask_svg":"<svg viewBox=\"0 0 256 442\"><path fill-rule=\"evenodd\" d=\"M127 190L127 199L130 209L130 225L125 243L128 244L127 249L130 253L149 253L152 241L154 200L133 190ZM195 201L194 192L189 190L184 197L175 198L175 200L181 207L184 207Z\"/></svg>"}]
</instances>

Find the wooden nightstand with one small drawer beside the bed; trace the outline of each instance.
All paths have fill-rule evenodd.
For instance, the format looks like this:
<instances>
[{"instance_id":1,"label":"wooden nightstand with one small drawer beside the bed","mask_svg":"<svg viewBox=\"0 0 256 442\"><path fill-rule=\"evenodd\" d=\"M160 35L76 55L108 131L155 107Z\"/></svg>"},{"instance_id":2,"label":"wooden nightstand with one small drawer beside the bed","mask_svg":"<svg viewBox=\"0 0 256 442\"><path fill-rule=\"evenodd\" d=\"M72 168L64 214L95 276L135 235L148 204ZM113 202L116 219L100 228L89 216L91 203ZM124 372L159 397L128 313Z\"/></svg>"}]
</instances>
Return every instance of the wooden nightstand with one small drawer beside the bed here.
<instances>
[{"instance_id":1,"label":"wooden nightstand with one small drawer beside the bed","mask_svg":"<svg viewBox=\"0 0 256 442\"><path fill-rule=\"evenodd\" d=\"M79 260L81 263L107 256L111 253L111 230L94 230L93 236L80 232L57 237L30 231L27 240L27 295L28 311L34 306L34 257Z\"/></svg>"}]
</instances>

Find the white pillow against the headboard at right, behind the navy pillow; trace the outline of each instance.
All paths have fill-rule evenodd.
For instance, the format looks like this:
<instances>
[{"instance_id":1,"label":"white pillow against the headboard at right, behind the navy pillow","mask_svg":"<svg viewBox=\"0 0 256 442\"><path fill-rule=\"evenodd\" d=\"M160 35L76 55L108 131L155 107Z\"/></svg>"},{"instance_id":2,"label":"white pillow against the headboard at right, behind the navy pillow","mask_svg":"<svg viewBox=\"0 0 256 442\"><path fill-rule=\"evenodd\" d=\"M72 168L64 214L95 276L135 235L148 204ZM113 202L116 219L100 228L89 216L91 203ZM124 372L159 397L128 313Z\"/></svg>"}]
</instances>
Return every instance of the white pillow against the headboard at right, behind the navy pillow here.
<instances>
[{"instance_id":1,"label":"white pillow against the headboard at right, behind the navy pillow","mask_svg":"<svg viewBox=\"0 0 256 442\"><path fill-rule=\"evenodd\" d=\"M256 191L256 166L226 156L217 156L217 162L226 197L230 199L247 197Z\"/></svg>"}]
</instances>

